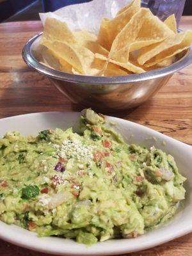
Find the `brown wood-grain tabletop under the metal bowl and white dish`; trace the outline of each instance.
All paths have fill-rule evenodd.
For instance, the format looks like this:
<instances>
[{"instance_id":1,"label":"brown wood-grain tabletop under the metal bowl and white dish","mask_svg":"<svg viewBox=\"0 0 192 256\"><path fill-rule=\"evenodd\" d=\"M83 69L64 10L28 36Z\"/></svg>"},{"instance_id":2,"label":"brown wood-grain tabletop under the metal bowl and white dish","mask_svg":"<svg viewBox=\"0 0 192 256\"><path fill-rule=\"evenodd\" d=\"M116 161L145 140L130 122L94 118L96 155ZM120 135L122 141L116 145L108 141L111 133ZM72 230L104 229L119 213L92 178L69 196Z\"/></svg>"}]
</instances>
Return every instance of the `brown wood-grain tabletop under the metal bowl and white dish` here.
<instances>
[{"instance_id":1,"label":"brown wood-grain tabletop under the metal bowl and white dish","mask_svg":"<svg viewBox=\"0 0 192 256\"><path fill-rule=\"evenodd\" d=\"M181 29L191 29L191 25L192 17L182 17ZM0 24L0 118L40 111L80 110L79 106L61 95L47 78L28 68L22 60L23 45L40 31L42 25L39 21ZM192 66L174 74L153 99L121 117L192 145ZM45 256L44 253L32 252L1 240L0 255ZM170 255L191 256L192 234L156 248L129 254Z\"/></svg>"}]
</instances>

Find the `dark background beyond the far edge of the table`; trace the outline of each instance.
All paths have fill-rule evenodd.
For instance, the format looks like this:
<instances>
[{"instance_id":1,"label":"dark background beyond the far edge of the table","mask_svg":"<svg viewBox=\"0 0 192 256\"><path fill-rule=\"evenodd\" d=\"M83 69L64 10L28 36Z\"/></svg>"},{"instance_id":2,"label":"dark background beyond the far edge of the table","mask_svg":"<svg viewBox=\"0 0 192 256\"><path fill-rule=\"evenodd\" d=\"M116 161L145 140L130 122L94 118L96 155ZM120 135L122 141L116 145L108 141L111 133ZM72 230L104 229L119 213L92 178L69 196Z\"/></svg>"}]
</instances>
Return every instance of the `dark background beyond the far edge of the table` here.
<instances>
[{"instance_id":1,"label":"dark background beyond the far edge of the table","mask_svg":"<svg viewBox=\"0 0 192 256\"><path fill-rule=\"evenodd\" d=\"M91 0L0 0L0 22L38 20L39 12L53 12L61 6L89 1ZM192 0L186 0L183 15L192 15Z\"/></svg>"}]
</instances>

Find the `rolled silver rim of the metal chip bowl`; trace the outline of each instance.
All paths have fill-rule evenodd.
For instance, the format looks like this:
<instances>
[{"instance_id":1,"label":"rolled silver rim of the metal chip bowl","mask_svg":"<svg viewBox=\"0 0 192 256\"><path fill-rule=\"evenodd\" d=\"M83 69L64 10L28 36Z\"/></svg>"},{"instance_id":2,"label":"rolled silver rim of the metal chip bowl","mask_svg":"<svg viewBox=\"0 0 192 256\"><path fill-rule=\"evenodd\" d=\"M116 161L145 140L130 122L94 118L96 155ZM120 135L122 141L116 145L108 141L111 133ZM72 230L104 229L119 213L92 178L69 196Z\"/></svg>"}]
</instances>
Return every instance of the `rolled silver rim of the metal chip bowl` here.
<instances>
[{"instance_id":1,"label":"rolled silver rim of the metal chip bowl","mask_svg":"<svg viewBox=\"0 0 192 256\"><path fill-rule=\"evenodd\" d=\"M178 29L181 32L180 29ZM179 71L180 69L190 65L192 63L192 47L189 47L186 54L178 61L173 63L172 65L164 68L158 68L156 70L148 71L141 74L132 74L128 76L113 76L113 77L102 77L102 76L84 76L77 74L70 74L66 72L61 72L59 70L55 70L50 67L46 67L40 61L36 60L35 56L31 52L31 46L33 43L42 36L43 32L38 33L33 36L26 42L22 49L22 58L26 62L26 64L35 68L41 74L45 76L51 77L53 79L58 79L61 81L68 81L70 83L82 83L82 84L127 84L134 83L139 81L147 81L150 79L156 79L163 76L168 76L173 74L174 72Z\"/></svg>"}]
</instances>

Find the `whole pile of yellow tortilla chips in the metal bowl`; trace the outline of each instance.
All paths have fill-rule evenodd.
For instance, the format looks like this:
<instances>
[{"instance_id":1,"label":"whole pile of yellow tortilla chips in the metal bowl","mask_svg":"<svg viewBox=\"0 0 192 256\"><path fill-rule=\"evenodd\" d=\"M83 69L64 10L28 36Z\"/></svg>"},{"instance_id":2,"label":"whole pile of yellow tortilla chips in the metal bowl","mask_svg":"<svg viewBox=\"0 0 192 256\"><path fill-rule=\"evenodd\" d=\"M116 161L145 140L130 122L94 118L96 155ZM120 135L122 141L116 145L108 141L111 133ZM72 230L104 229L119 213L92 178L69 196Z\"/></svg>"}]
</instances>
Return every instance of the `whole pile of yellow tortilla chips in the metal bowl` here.
<instances>
[{"instance_id":1,"label":"whole pile of yellow tortilla chips in the metal bowl","mask_svg":"<svg viewBox=\"0 0 192 256\"><path fill-rule=\"evenodd\" d=\"M192 31L177 33L174 15L163 22L133 0L114 19L102 19L98 36L46 19L41 61L67 73L127 76L171 65L191 43Z\"/></svg>"}]
</instances>

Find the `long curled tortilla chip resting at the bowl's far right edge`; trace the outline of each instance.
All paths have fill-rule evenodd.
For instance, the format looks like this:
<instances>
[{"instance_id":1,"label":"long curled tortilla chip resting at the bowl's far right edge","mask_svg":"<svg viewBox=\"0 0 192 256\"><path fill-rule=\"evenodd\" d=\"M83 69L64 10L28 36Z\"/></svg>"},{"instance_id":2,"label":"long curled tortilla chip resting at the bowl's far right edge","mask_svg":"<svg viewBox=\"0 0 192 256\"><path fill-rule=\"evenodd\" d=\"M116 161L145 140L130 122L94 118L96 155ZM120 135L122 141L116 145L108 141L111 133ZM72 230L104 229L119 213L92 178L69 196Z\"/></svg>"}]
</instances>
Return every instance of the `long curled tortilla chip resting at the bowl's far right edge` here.
<instances>
[{"instance_id":1,"label":"long curled tortilla chip resting at the bowl's far right edge","mask_svg":"<svg viewBox=\"0 0 192 256\"><path fill-rule=\"evenodd\" d=\"M166 58L175 56L179 52L188 49L192 43L192 31L181 32L177 35L170 36L166 38L163 42L159 44L150 45L141 49L138 55L138 62L140 65L145 65L147 67L156 65Z\"/></svg>"}]
</instances>

